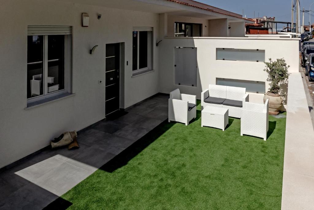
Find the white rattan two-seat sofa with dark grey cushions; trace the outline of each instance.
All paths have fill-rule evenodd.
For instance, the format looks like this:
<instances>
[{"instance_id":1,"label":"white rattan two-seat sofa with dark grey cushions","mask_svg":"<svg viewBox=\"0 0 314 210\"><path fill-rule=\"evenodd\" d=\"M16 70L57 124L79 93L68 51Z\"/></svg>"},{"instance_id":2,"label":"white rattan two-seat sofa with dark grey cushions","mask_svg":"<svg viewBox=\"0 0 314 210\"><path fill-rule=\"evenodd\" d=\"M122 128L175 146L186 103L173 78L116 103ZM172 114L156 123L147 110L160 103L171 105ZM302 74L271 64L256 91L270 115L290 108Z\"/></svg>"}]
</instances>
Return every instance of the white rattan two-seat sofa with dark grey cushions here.
<instances>
[{"instance_id":1,"label":"white rattan two-seat sofa with dark grey cushions","mask_svg":"<svg viewBox=\"0 0 314 210\"><path fill-rule=\"evenodd\" d=\"M245 88L230 87L223 85L208 86L201 95L202 109L205 106L227 108L229 116L241 118L243 103L249 101L249 94Z\"/></svg>"}]
</instances>

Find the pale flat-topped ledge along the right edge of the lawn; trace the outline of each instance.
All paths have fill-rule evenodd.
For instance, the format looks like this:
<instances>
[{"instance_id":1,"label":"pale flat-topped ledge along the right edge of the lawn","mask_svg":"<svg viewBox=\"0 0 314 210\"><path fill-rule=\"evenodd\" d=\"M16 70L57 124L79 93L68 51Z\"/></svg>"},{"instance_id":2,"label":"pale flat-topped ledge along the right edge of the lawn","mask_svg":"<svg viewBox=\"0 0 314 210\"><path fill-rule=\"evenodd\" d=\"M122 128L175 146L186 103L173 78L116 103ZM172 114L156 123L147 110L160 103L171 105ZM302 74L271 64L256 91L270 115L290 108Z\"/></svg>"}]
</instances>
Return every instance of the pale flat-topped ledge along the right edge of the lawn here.
<instances>
[{"instance_id":1,"label":"pale flat-topped ledge along the right edge of the lawn","mask_svg":"<svg viewBox=\"0 0 314 210\"><path fill-rule=\"evenodd\" d=\"M300 73L288 84L281 209L314 209L314 131Z\"/></svg>"}]
</instances>

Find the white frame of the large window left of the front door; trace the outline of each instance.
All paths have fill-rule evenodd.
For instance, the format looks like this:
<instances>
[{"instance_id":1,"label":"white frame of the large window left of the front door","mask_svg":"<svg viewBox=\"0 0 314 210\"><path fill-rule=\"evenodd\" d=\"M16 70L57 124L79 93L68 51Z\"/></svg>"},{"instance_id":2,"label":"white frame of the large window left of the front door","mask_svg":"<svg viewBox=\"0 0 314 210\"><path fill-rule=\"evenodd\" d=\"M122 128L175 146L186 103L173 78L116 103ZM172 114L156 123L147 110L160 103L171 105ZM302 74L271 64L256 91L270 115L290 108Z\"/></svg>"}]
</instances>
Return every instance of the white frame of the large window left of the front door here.
<instances>
[{"instance_id":1,"label":"white frame of the large window left of the front door","mask_svg":"<svg viewBox=\"0 0 314 210\"><path fill-rule=\"evenodd\" d=\"M29 34L30 35L30 34ZM60 35L60 34L57 34ZM33 35L30 35L33 36ZM53 96L71 93L71 83L72 83L72 35L64 35L64 89L57 90L48 93L48 36L49 35L38 35L43 36L44 46L43 46L43 94L31 97L27 99L27 104L39 101L42 99L47 99ZM41 61L40 61L41 62Z\"/></svg>"}]
</instances>

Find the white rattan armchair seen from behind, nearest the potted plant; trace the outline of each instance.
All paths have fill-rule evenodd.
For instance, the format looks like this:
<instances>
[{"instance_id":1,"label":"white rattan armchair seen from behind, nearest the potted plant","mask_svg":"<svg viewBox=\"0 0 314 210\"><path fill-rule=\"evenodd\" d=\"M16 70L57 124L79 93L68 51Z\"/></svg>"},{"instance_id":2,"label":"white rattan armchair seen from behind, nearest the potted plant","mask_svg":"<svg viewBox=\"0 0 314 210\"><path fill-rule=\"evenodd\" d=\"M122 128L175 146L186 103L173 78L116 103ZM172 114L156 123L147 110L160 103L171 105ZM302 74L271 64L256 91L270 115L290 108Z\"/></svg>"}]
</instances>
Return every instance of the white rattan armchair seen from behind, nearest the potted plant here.
<instances>
[{"instance_id":1,"label":"white rattan armchair seen from behind, nearest the potted plant","mask_svg":"<svg viewBox=\"0 0 314 210\"><path fill-rule=\"evenodd\" d=\"M241 117L241 136L243 134L267 139L268 99L265 104L243 103Z\"/></svg>"}]
</instances>

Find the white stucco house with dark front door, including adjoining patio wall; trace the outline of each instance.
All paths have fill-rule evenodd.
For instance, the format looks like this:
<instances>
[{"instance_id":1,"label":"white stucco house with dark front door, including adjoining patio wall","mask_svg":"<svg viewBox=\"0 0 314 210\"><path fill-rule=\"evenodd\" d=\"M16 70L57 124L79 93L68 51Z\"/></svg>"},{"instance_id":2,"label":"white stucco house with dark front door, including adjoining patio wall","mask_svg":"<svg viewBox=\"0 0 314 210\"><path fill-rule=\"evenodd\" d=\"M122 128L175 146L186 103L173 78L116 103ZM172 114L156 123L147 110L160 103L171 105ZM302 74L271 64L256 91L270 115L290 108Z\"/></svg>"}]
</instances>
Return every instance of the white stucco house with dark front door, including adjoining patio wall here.
<instances>
[{"instance_id":1,"label":"white stucco house with dark front door, including adjoining patio wall","mask_svg":"<svg viewBox=\"0 0 314 210\"><path fill-rule=\"evenodd\" d=\"M299 71L298 39L245 37L249 20L190 0L0 7L0 168L157 93L180 88L200 98L208 84L227 82L261 101L263 61L284 58Z\"/></svg>"}]
</instances>

